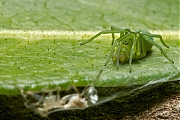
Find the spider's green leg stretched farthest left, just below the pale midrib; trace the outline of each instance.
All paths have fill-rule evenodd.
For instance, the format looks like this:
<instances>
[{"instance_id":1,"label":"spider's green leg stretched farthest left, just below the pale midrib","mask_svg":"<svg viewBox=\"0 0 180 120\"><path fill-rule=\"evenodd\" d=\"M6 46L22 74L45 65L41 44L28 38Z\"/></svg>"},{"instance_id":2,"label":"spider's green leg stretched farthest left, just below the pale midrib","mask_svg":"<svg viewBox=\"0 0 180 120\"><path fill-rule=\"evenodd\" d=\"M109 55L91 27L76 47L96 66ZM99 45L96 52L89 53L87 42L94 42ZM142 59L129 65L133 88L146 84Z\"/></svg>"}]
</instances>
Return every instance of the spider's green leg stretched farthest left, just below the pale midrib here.
<instances>
[{"instance_id":1,"label":"spider's green leg stretched farthest left, just below the pale midrib","mask_svg":"<svg viewBox=\"0 0 180 120\"><path fill-rule=\"evenodd\" d=\"M109 33L121 33L122 30L105 30L105 31L101 31L99 33L97 33L96 35L94 35L93 37L91 37L89 40L85 41L85 42L82 42L80 45L84 45L88 42L91 42L92 40L94 40L95 38L97 38L98 36L100 36L101 34L109 34Z\"/></svg>"}]
</instances>

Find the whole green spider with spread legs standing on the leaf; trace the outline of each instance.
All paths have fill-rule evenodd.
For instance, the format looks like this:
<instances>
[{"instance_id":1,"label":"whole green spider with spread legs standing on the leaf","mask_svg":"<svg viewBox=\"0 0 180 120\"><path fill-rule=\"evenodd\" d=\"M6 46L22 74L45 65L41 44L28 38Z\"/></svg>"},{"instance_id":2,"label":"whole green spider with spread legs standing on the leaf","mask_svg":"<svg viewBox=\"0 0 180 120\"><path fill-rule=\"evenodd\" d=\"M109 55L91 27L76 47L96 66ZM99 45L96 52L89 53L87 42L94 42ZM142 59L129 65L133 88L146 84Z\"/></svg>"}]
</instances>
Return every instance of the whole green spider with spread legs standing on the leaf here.
<instances>
[{"instance_id":1,"label":"whole green spider with spread legs standing on the leaf","mask_svg":"<svg viewBox=\"0 0 180 120\"><path fill-rule=\"evenodd\" d=\"M111 30L101 31L96 35L94 35L93 37L91 37L89 40L81 43L80 45L84 45L92 41L101 34L109 34L109 33L112 34L112 48L109 57L104 64L105 66L108 64L110 58L112 58L112 61L114 62L114 64L116 64L117 68L119 67L119 62L124 63L125 61L129 61L129 72L131 73L132 60L145 57L146 53L151 50L153 45L159 48L161 53L170 62L174 63L173 60L171 60L167 56L167 54L161 48L161 46L158 45L156 42L154 42L154 38L159 38L162 44L165 47L169 48L169 46L167 46L163 41L162 36L158 34L151 34L145 30L131 31L129 28L122 29L111 26ZM114 33L120 33L120 37L115 39Z\"/></svg>"}]
</instances>

